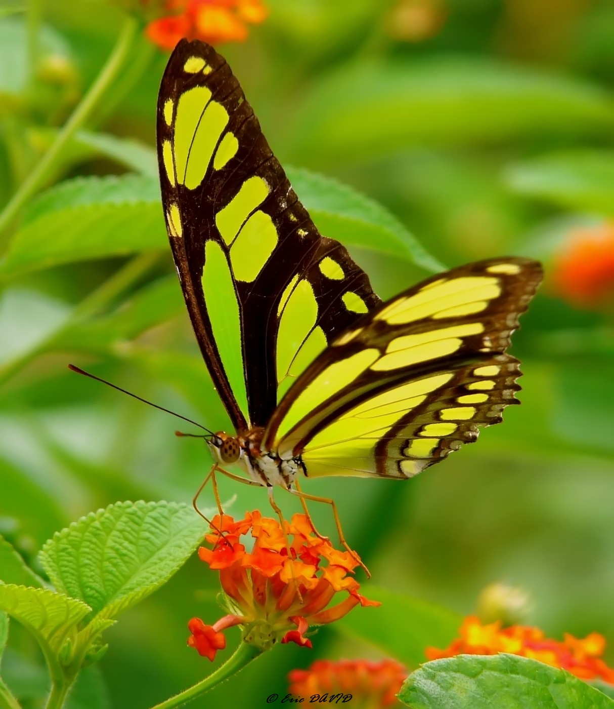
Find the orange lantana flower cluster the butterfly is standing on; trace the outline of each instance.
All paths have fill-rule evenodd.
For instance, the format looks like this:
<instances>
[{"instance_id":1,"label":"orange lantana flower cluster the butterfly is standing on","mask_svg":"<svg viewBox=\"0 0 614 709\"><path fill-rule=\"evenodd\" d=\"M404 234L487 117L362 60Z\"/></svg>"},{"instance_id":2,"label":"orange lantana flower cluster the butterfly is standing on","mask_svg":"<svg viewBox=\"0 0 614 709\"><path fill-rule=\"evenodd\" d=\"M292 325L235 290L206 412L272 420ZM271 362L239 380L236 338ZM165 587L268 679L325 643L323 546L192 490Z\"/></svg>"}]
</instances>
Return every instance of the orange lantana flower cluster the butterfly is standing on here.
<instances>
[{"instance_id":1,"label":"orange lantana flower cluster the butterfly is standing on","mask_svg":"<svg viewBox=\"0 0 614 709\"><path fill-rule=\"evenodd\" d=\"M240 541L248 533L255 540L251 552ZM232 625L261 649L278 640L312 647L305 637L309 625L333 623L356 605L380 605L361 596L358 581L348 576L358 566L356 557L314 535L305 515L294 515L285 529L258 510L237 522L216 515L206 540L212 549L200 547L198 556L220 571L229 613L213 625L193 618L188 645L210 660L226 646L222 630ZM346 598L330 606L341 592Z\"/></svg>"}]
</instances>

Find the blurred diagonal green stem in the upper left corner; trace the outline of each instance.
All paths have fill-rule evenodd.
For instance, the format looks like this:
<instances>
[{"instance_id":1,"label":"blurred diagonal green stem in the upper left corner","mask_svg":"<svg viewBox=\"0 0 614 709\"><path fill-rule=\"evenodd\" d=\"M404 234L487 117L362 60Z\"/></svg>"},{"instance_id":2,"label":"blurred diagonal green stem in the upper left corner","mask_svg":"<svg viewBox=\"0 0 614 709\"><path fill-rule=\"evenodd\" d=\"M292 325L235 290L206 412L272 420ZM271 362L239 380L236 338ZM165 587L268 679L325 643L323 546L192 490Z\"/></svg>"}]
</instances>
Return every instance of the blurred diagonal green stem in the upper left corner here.
<instances>
[{"instance_id":1,"label":"blurred diagonal green stem in the upper left corner","mask_svg":"<svg viewBox=\"0 0 614 709\"><path fill-rule=\"evenodd\" d=\"M123 69L132 44L139 30L138 21L128 16L120 30L120 35L113 51L110 53L108 60L102 68L98 78L90 86L89 91L85 94L79 105L74 109L72 116L68 119L64 128L60 130L55 139L55 143L50 147L45 155L43 155L28 175L27 179L21 184L19 189L13 195L11 201L8 202L2 213L0 214L0 235L4 233L13 223L18 213L24 204L30 199L39 189L45 184L45 180L52 173L52 169L57 164L62 152L69 144L71 138L77 130L82 128L89 120L96 107L100 103L105 91L113 83L120 71Z\"/></svg>"}]
</instances>

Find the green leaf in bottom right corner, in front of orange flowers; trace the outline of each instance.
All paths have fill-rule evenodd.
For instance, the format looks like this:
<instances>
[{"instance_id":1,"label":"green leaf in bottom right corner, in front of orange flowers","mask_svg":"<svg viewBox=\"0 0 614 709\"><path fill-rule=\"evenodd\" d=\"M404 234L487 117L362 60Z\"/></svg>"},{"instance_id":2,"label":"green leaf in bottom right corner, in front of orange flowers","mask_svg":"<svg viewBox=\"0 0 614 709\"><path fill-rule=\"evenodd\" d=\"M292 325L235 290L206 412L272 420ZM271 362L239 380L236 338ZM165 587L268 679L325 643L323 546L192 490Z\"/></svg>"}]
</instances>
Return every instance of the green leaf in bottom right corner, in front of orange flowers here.
<instances>
[{"instance_id":1,"label":"green leaf in bottom right corner, in front of orange flowers","mask_svg":"<svg viewBox=\"0 0 614 709\"><path fill-rule=\"evenodd\" d=\"M399 692L411 709L613 709L614 701L564 670L517 655L428 662Z\"/></svg>"}]
</instances>

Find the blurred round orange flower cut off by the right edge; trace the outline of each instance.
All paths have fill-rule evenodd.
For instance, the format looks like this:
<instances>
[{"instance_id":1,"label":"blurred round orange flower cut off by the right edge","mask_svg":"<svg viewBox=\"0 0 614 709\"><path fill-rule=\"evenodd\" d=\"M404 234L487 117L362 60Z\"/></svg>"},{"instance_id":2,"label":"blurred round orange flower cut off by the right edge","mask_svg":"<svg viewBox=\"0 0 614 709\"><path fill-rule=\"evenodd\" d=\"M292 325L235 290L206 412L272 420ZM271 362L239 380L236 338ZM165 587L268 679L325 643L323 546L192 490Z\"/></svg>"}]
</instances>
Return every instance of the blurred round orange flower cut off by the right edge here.
<instances>
[{"instance_id":1,"label":"blurred round orange flower cut off by the right edge","mask_svg":"<svg viewBox=\"0 0 614 709\"><path fill-rule=\"evenodd\" d=\"M614 303L614 222L573 230L555 255L551 282L574 306Z\"/></svg>"}]
</instances>

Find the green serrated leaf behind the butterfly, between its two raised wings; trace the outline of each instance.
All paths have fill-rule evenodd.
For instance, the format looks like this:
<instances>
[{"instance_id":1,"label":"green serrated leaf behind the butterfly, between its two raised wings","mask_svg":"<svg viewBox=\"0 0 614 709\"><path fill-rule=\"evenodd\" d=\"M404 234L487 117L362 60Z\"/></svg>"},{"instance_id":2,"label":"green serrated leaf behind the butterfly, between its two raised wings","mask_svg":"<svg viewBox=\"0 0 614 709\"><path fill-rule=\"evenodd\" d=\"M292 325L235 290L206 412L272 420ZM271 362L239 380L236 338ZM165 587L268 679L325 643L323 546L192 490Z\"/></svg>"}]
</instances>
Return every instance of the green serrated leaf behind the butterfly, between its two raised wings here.
<instances>
[{"instance_id":1,"label":"green serrated leaf behind the butterfly, between its two raised wings","mask_svg":"<svg viewBox=\"0 0 614 709\"><path fill-rule=\"evenodd\" d=\"M414 235L381 204L360 192L306 169L286 169L300 201L318 229L343 244L404 257L436 273L445 266L426 252Z\"/></svg>"}]
</instances>

